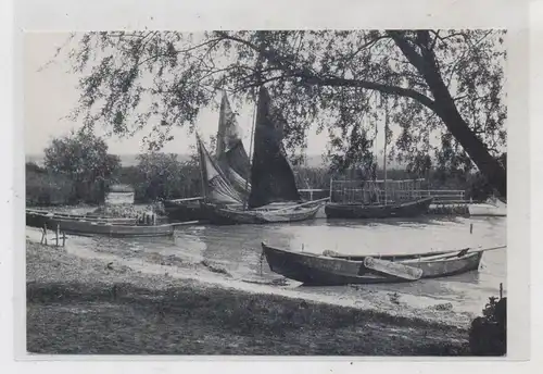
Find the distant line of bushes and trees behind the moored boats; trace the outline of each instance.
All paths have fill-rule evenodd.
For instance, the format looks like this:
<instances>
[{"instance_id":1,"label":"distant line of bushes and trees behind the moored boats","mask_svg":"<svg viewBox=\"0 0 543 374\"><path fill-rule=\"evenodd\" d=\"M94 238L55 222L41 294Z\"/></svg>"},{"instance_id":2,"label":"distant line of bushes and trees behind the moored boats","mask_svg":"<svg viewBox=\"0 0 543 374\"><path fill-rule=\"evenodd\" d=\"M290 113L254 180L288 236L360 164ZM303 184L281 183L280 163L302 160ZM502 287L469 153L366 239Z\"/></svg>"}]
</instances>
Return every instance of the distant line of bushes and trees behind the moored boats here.
<instances>
[{"instance_id":1,"label":"distant line of bushes and trees behind the moored boats","mask_svg":"<svg viewBox=\"0 0 543 374\"><path fill-rule=\"evenodd\" d=\"M118 155L110 154L104 139L93 133L78 130L55 138L43 150L43 166L26 163L27 205L98 204L104 201L110 186L129 185L136 202L202 196L202 179L198 155L179 160L178 154L144 153L136 165L123 166ZM505 159L504 159L505 163ZM294 166L299 189L330 189L330 178L365 178L359 169L341 173L329 167ZM427 169L428 170L428 169ZM375 171L375 172L374 172ZM368 173L367 171L365 173ZM371 171L371 177L383 178L382 170ZM492 188L478 173L462 169L430 169L425 175L392 169L389 179L426 179L422 188L464 190L467 199L485 199Z\"/></svg>"}]
</instances>

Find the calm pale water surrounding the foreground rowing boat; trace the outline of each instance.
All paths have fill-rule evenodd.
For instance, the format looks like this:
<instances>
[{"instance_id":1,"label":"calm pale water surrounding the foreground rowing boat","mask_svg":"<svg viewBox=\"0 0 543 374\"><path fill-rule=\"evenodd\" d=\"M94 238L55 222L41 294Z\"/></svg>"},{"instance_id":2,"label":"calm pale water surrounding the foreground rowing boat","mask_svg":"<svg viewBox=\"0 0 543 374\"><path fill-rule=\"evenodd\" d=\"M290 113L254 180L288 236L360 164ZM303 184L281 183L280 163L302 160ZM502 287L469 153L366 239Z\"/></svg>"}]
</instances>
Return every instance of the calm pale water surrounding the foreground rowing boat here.
<instances>
[{"instance_id":1,"label":"calm pale water surrounding the foreground rowing boat","mask_svg":"<svg viewBox=\"0 0 543 374\"><path fill-rule=\"evenodd\" d=\"M470 234L470 224L473 224ZM413 253L466 247L494 247L506 244L505 217L381 220L349 222L316 220L276 225L181 226L174 238L114 239L72 237L80 246L122 258L175 259L184 263L206 260L231 274L232 279L272 280L278 277L261 261L261 241L293 250L321 253ZM155 262L156 263L156 262ZM443 279L406 284L363 285L358 287L298 287L300 292L333 296L339 299L386 299L397 292L402 301L417 308L450 302L455 311L480 313L489 296L497 296L500 283L506 289L506 250L485 252L479 272ZM257 287L257 286L255 286Z\"/></svg>"}]
</instances>

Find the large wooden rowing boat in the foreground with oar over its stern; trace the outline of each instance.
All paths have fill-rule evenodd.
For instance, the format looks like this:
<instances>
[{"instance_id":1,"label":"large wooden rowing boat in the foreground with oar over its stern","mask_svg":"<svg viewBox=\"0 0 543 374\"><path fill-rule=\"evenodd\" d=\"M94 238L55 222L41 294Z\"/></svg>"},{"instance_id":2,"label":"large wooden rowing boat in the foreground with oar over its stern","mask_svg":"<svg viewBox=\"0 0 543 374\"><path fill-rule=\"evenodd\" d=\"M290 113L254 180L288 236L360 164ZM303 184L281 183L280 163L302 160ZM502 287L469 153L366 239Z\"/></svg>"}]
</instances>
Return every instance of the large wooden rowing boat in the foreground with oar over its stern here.
<instances>
[{"instance_id":1,"label":"large wooden rowing boat in the foreground with oar over its stern","mask_svg":"<svg viewBox=\"0 0 543 374\"><path fill-rule=\"evenodd\" d=\"M262 244L269 269L306 285L400 283L457 275L479 269L484 251L460 249L400 255L341 255L294 252Z\"/></svg>"}]
</instances>

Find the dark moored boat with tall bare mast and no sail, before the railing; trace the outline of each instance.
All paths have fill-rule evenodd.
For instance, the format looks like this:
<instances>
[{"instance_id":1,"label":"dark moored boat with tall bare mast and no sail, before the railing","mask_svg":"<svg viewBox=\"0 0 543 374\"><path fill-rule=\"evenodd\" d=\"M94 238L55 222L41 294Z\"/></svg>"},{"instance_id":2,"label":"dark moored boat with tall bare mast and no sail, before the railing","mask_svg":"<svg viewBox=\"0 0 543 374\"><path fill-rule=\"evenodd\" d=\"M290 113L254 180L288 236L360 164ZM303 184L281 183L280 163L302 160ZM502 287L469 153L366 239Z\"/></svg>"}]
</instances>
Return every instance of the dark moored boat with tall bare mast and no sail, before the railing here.
<instances>
[{"instance_id":1,"label":"dark moored boat with tall bare mast and no sail, before the railing","mask_svg":"<svg viewBox=\"0 0 543 374\"><path fill-rule=\"evenodd\" d=\"M386 219L386 217L412 217L428 212L433 201L432 197L422 198L405 202L390 201L387 189L387 130L389 128L388 104L384 105L384 149L383 149L383 171L384 171L384 199L377 203L337 203L330 202L325 207L327 219ZM330 186L331 189L331 186ZM331 195L331 194L330 194ZM331 196L330 196L331 197Z\"/></svg>"}]
</instances>

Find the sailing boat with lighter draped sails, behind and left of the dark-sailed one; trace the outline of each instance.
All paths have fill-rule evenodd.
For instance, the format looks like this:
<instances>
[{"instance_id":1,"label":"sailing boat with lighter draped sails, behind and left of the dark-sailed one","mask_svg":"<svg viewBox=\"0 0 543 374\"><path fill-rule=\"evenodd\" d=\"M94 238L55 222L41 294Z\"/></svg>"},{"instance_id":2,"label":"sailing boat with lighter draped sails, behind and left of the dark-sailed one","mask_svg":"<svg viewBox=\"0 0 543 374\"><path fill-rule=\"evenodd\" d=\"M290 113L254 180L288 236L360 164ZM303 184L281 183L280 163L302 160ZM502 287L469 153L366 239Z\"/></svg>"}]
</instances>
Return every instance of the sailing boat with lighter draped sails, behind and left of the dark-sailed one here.
<instances>
[{"instance_id":1,"label":"sailing boat with lighter draped sails, behind and left of the dark-sailed one","mask_svg":"<svg viewBox=\"0 0 543 374\"><path fill-rule=\"evenodd\" d=\"M209 170L207 174L219 174L222 184L228 184L230 194L227 200L216 199L206 194L213 194L213 189L204 186L203 197L165 200L164 208L168 217L176 221L200 221L206 220L207 203L239 203L249 196L251 185L247 182L249 178L250 162L247 151L241 140L241 130L236 115L230 108L226 92L223 94L220 101L220 114L218 120L217 141L215 160L205 149L199 136L197 135L198 152L200 154L200 167L203 171ZM203 204L201 202L204 202Z\"/></svg>"}]
</instances>

